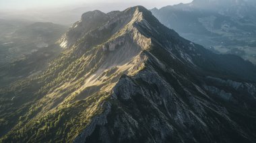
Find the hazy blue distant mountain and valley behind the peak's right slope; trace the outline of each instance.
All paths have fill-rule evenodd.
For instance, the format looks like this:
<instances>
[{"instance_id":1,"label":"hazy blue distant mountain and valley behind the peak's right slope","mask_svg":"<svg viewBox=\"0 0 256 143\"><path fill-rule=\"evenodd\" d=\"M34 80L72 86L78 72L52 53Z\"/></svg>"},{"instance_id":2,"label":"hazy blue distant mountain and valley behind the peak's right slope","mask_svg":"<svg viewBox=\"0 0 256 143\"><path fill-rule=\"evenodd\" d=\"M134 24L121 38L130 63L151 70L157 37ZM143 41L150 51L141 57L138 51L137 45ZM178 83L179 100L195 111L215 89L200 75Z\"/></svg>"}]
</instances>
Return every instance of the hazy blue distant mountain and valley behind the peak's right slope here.
<instances>
[{"instance_id":1,"label":"hazy blue distant mountain and valley behind the peak's right slope","mask_svg":"<svg viewBox=\"0 0 256 143\"><path fill-rule=\"evenodd\" d=\"M252 0L194 0L152 9L161 23L214 52L256 63L256 3Z\"/></svg>"}]
</instances>

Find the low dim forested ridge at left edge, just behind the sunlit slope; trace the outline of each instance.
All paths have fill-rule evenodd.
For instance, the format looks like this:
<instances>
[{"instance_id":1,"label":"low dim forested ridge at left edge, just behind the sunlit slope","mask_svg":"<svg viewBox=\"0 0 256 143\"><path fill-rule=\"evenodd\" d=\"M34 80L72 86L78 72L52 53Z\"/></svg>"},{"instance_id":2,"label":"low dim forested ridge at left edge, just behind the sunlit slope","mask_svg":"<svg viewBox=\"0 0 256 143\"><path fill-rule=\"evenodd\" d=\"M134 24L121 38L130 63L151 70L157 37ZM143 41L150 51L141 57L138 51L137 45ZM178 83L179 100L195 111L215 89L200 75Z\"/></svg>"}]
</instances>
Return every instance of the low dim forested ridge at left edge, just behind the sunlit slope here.
<instances>
[{"instance_id":1,"label":"low dim forested ridge at left edge, just behind the sunlit slope","mask_svg":"<svg viewBox=\"0 0 256 143\"><path fill-rule=\"evenodd\" d=\"M0 66L0 87L6 87L13 81L40 74L62 50L59 45L52 44L3 64Z\"/></svg>"}]
</instances>

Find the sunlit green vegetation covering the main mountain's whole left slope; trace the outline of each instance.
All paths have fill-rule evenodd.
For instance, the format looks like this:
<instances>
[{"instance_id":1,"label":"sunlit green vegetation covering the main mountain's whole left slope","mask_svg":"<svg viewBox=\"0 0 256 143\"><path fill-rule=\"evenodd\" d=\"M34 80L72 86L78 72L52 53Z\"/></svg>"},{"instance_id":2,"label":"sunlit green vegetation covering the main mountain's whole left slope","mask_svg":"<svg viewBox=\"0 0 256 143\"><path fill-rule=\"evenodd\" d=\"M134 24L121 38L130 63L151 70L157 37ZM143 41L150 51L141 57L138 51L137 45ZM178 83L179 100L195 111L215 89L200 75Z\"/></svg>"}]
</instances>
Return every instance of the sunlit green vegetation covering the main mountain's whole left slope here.
<instances>
[{"instance_id":1,"label":"sunlit green vegetation covering the main mountain's whole left slope","mask_svg":"<svg viewBox=\"0 0 256 143\"><path fill-rule=\"evenodd\" d=\"M102 112L113 83L125 71L116 73L119 68L113 66L98 75L99 83L86 81L106 62L109 53L102 43L113 33L110 28L91 32L99 37L82 36L43 73L1 89L0 135L5 136L0 142L71 142Z\"/></svg>"}]
</instances>

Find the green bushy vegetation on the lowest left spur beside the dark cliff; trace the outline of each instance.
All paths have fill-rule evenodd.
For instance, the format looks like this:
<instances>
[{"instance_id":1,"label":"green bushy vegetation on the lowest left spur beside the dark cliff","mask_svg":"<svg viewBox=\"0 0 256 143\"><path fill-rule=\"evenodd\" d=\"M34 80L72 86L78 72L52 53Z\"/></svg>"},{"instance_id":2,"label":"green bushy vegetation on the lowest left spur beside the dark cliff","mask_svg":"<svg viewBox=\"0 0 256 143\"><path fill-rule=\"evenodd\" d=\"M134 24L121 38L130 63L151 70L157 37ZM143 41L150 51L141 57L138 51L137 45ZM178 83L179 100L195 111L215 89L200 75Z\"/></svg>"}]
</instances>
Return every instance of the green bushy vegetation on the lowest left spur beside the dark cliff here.
<instances>
[{"instance_id":1,"label":"green bushy vegetation on the lowest left spur beside the dark cliff","mask_svg":"<svg viewBox=\"0 0 256 143\"><path fill-rule=\"evenodd\" d=\"M108 94L98 93L86 100L60 106L41 117L29 120L26 124L26 117L21 116L18 126L1 141L71 142L90 123L92 116L101 113L100 105L107 97Z\"/></svg>"}]
</instances>

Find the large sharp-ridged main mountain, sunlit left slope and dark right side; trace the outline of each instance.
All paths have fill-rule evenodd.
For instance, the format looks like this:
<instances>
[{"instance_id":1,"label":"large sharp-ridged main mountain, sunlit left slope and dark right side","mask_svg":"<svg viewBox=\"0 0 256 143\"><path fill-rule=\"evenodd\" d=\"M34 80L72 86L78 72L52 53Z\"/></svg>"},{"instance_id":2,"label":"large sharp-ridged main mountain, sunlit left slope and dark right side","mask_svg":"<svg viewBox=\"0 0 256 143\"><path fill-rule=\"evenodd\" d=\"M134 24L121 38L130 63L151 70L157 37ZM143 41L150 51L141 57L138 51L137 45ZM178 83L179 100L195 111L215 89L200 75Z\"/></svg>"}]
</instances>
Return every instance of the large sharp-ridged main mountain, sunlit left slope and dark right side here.
<instances>
[{"instance_id":1,"label":"large sharp-ridged main mountain, sunlit left slope and dark right side","mask_svg":"<svg viewBox=\"0 0 256 143\"><path fill-rule=\"evenodd\" d=\"M256 67L144 7L90 11L41 75L0 91L0 142L255 142Z\"/></svg>"}]
</instances>

